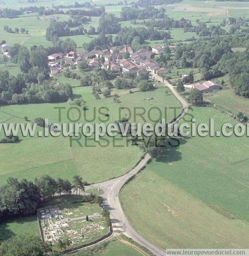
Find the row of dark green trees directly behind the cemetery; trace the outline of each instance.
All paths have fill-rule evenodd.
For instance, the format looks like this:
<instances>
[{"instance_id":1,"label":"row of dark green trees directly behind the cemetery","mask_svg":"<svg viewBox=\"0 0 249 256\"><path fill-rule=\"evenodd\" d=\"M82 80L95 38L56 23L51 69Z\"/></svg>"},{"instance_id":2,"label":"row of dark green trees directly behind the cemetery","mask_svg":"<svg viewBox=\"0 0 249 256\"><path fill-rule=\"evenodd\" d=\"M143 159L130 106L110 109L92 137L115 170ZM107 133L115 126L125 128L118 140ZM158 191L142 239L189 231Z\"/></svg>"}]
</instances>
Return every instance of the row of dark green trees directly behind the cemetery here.
<instances>
[{"instance_id":1,"label":"row of dark green trees directly behind the cemetery","mask_svg":"<svg viewBox=\"0 0 249 256\"><path fill-rule=\"evenodd\" d=\"M80 191L85 190L85 185L88 185L88 182L79 175L74 175L72 179L71 182L68 179L54 179L49 175L43 175L34 181L19 181L17 178L9 177L6 184L0 186L0 220L33 214L41 201L51 200L56 194L71 194L72 191L80 194ZM94 198L95 196L90 194L85 195L83 200Z\"/></svg>"}]
</instances>

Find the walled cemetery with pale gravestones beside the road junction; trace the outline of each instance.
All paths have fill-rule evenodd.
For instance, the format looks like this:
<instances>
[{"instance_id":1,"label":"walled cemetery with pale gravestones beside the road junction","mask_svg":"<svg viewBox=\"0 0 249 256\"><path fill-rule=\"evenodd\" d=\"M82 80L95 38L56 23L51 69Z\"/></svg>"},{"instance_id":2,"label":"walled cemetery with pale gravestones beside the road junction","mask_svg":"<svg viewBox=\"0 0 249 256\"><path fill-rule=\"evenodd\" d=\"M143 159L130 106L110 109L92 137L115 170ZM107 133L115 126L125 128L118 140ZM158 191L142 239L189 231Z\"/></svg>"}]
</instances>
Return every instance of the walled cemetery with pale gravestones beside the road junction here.
<instances>
[{"instance_id":1,"label":"walled cemetery with pale gravestones beside the road junction","mask_svg":"<svg viewBox=\"0 0 249 256\"><path fill-rule=\"evenodd\" d=\"M53 205L37 210L41 237L61 250L60 241L67 240L67 249L94 241L109 232L102 208L96 203ZM64 248L65 249L65 248Z\"/></svg>"}]
</instances>

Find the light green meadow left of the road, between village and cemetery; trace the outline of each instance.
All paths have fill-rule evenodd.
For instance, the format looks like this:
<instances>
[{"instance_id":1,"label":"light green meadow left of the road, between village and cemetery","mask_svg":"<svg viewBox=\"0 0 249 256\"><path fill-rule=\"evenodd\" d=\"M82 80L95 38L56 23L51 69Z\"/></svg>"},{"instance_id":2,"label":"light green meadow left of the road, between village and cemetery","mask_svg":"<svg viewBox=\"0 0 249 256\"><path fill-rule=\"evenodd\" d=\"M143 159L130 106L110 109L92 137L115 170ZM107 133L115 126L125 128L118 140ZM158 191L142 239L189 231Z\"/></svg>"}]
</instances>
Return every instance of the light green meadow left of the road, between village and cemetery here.
<instances>
[{"instance_id":1,"label":"light green meadow left of the road, between village and cemetery","mask_svg":"<svg viewBox=\"0 0 249 256\"><path fill-rule=\"evenodd\" d=\"M141 113L141 109L134 107L145 107L145 120L148 120L148 110L151 107L159 107L163 112L165 111L164 106L179 107L176 98L170 93L166 95L164 88L147 92L128 93L127 91L126 94L123 94L123 91L118 92L121 101L119 104L113 101L113 97L98 100L93 98L91 87L75 87L73 92L74 98L82 96L86 100L88 110L81 112L81 118L78 121L83 123L91 120L95 113L96 120L91 122L106 120L106 117L98 112L101 107L109 108L110 116L106 122L113 122L124 115L129 117L129 112L119 107L129 107L131 116L135 110L137 114ZM154 100L145 100L151 96ZM23 116L26 115L31 121L40 116L47 117L49 123L58 122L58 109L54 109L54 107L65 107L65 110L62 110L60 122L69 122L66 114L69 105L66 102L1 106L0 119L10 118L7 122L23 122ZM103 112L103 110L101 111ZM181 107L178 111L180 110ZM150 114L152 119L160 119L157 109L152 110ZM78 112L75 109L69 111L70 118L75 118L77 115ZM173 115L174 109L168 109L167 119L172 119ZM144 122L141 116L137 116L136 121ZM41 127L40 130L42 130ZM1 133L1 135L3 134ZM21 134L19 135L21 140L18 143L2 144L0 147L0 184L4 184L10 175L33 180L42 174L49 174L53 177L60 176L70 180L73 175L79 174L90 183L100 182L126 173L143 154L137 146L132 146L127 143L126 138L119 136L110 138L105 135L99 142L93 141L93 137L82 137L79 141L82 146L77 141L72 141L70 146L68 137L23 137Z\"/></svg>"}]
</instances>

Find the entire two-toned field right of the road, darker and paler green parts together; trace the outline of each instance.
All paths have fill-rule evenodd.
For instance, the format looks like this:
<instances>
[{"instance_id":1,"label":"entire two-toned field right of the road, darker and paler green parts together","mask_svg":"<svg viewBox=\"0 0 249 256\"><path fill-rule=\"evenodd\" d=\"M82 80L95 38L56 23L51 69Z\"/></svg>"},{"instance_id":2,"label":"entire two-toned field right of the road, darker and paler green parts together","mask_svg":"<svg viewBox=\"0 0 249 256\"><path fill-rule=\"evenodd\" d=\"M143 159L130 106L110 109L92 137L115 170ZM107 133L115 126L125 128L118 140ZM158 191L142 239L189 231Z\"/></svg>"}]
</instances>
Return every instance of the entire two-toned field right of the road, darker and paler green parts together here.
<instances>
[{"instance_id":1,"label":"entire two-toned field right of the road, darker and paler green parts together","mask_svg":"<svg viewBox=\"0 0 249 256\"><path fill-rule=\"evenodd\" d=\"M194 107L190 114L197 123L213 117L216 130L235 123L212 107ZM124 187L125 212L136 230L163 248L245 247L248 155L247 137L181 139ZM229 219L231 213L240 219Z\"/></svg>"}]
</instances>

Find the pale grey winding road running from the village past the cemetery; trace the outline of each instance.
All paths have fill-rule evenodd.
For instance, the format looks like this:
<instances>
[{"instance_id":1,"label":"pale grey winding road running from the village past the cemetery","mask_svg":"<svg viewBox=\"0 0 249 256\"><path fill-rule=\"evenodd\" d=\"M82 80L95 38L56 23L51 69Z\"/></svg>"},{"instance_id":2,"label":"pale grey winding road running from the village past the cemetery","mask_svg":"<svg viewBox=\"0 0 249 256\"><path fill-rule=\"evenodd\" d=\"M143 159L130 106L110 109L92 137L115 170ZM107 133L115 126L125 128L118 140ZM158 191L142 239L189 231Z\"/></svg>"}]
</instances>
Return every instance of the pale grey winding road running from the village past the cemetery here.
<instances>
[{"instance_id":1,"label":"pale grey winding road running from the village past the cemetery","mask_svg":"<svg viewBox=\"0 0 249 256\"><path fill-rule=\"evenodd\" d=\"M154 78L158 81L162 81L162 78L156 74L153 74ZM178 100L183 105L183 112L181 116L179 116L173 123L179 121L188 111L188 105L186 101L182 98L178 92L175 91L174 87L168 82L164 81L165 85L168 86L173 94L178 98ZM173 124L172 123L172 124ZM172 125L170 124L170 125ZM134 176L150 159L150 155L146 154L143 159L139 161L139 163L131 169L128 173L121 177L117 177L114 179L107 180L105 182L101 182L99 184L93 184L86 188L99 188L103 189L104 194L101 195L104 199L103 207L110 211L110 217L113 225L113 233L121 233L123 232L125 235L131 237L134 241L148 248L152 253L157 256L164 256L165 251L161 248L158 248L154 244L150 243L146 239L144 239L141 235L139 235L134 228L131 226L127 217L125 216L121 204L119 202L119 191L121 187L125 184L125 182Z\"/></svg>"}]
</instances>

